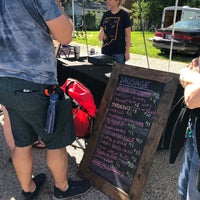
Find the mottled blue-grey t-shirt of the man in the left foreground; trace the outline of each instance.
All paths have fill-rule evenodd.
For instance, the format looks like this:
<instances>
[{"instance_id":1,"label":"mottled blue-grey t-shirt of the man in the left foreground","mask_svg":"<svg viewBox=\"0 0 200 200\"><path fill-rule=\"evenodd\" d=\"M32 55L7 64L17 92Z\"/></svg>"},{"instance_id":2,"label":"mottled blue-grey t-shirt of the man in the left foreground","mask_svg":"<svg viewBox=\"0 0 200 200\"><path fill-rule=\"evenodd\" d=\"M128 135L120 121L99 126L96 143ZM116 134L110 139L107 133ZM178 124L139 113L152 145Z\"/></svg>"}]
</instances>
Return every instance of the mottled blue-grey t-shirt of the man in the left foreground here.
<instances>
[{"instance_id":1,"label":"mottled blue-grey t-shirt of the man in the left foreground","mask_svg":"<svg viewBox=\"0 0 200 200\"><path fill-rule=\"evenodd\" d=\"M61 16L55 0L0 0L0 77L57 83L57 62L45 21Z\"/></svg>"}]
</instances>

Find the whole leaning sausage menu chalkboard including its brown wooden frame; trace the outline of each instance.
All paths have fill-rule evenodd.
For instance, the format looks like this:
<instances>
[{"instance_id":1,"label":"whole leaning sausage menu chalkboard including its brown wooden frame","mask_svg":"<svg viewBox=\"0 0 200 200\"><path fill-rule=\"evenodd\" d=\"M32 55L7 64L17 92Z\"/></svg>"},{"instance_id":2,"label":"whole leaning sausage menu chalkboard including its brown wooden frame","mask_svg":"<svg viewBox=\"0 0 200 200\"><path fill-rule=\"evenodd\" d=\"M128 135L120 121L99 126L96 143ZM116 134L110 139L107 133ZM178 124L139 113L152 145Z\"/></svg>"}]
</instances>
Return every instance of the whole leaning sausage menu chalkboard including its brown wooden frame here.
<instances>
[{"instance_id":1,"label":"whole leaning sausage menu chalkboard including its brown wooden frame","mask_svg":"<svg viewBox=\"0 0 200 200\"><path fill-rule=\"evenodd\" d=\"M178 83L176 74L116 65L80 176L112 199L140 199Z\"/></svg>"}]
</instances>

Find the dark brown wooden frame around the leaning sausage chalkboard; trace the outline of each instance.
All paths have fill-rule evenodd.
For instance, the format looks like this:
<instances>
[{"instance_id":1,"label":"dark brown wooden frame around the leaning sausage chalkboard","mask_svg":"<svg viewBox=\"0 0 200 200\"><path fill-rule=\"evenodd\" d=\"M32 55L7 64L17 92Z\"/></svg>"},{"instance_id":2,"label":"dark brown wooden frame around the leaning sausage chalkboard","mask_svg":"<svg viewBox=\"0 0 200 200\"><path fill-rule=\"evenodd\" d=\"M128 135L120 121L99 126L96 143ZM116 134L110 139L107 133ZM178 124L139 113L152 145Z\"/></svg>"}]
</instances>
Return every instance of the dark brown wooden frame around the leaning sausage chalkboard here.
<instances>
[{"instance_id":1,"label":"dark brown wooden frame around the leaning sausage chalkboard","mask_svg":"<svg viewBox=\"0 0 200 200\"><path fill-rule=\"evenodd\" d=\"M128 76L130 77L130 80L131 78L139 78L147 80L148 82L157 82L158 85L163 85L158 107L149 128L149 133L146 137L144 148L139 157L139 161L136 166L136 172L133 176L128 191L125 191L123 187L120 188L116 185L113 185L112 181L106 180L106 177L99 175L95 170L91 169L94 168L91 164L91 161L93 160L98 141L102 137L102 127L104 126L104 121L109 113L108 107L112 103L113 94L116 90L119 77L121 76ZM92 134L89 138L87 148L80 164L79 176L84 179L92 180L94 186L108 195L111 199L139 200L152 165L153 156L157 150L161 135L165 129L178 84L178 74L130 65L116 64L113 67L111 77L107 84L99 111L95 119Z\"/></svg>"}]
</instances>

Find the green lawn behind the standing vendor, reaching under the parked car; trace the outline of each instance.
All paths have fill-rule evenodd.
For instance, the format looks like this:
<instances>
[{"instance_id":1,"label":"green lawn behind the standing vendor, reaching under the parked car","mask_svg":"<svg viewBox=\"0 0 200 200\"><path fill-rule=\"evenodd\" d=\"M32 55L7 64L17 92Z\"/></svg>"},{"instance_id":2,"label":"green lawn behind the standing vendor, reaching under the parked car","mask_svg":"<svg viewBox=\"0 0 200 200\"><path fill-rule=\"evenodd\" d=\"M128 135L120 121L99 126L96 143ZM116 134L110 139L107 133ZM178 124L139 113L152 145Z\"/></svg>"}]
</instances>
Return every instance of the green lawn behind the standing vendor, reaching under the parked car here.
<instances>
[{"instance_id":1,"label":"green lawn behind the standing vendor, reaching under the parked car","mask_svg":"<svg viewBox=\"0 0 200 200\"><path fill-rule=\"evenodd\" d=\"M86 44L86 42L88 42L88 45L101 47L101 42L98 40L98 33L99 33L98 31L87 31L86 32L87 37L85 37L84 32L77 32L76 36L73 38L73 41L81 44ZM169 59L169 54L161 53L160 50L152 46L151 39L153 37L154 37L154 32L145 32L144 34L141 31L131 32L130 52L139 55L147 54L149 57L153 58ZM189 63L194 57L195 56L182 55L178 53L172 54L173 61L186 62L186 63Z\"/></svg>"}]
</instances>

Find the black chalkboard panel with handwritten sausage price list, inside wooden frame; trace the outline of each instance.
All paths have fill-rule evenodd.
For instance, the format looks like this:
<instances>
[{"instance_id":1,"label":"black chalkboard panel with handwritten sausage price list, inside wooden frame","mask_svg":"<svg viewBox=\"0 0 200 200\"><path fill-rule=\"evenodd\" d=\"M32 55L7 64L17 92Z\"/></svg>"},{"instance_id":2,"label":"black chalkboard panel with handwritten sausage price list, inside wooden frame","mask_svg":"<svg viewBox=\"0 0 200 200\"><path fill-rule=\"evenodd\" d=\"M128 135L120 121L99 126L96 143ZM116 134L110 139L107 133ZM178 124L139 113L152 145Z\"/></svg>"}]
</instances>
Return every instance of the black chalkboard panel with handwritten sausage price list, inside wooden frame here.
<instances>
[{"instance_id":1,"label":"black chalkboard panel with handwritten sausage price list, inside wooden frame","mask_svg":"<svg viewBox=\"0 0 200 200\"><path fill-rule=\"evenodd\" d=\"M120 75L89 168L128 192L165 84Z\"/></svg>"}]
</instances>

